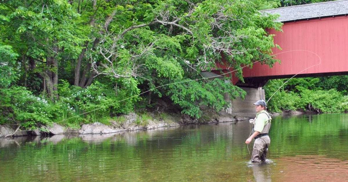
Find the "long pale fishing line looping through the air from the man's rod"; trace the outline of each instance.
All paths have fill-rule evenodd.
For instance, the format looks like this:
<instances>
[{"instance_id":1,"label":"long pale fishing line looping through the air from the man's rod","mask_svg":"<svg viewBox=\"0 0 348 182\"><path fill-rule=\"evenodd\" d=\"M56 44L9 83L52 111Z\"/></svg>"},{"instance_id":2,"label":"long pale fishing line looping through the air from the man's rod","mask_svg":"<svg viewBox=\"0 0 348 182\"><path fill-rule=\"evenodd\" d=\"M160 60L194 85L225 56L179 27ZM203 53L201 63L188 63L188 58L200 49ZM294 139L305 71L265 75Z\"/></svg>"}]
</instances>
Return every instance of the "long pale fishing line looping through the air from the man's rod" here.
<instances>
[{"instance_id":1,"label":"long pale fishing line looping through the air from the man's rod","mask_svg":"<svg viewBox=\"0 0 348 182\"><path fill-rule=\"evenodd\" d=\"M282 54L282 53L293 52L293 51L307 51L307 50L290 50L290 51L284 51L284 52L276 53L276 54L271 55L271 56L276 56L276 55L279 55L279 54ZM316 56L318 56L316 53L314 53L314 52L312 52L312 51L307 51L307 52L311 52L311 53L315 54ZM318 56L318 57L319 57L319 56ZM136 95L131 96L131 97L128 97L128 98L126 98L126 99L122 99L122 100L119 100L119 101L117 101L117 102L113 102L113 103L111 103L111 104L108 104L108 105L105 105L105 106L102 106L102 107L99 107L99 108L96 108L96 109L87 111L87 112L82 113L82 114L78 114L78 115L75 115L75 116L72 116L72 117L63 119L62 121L58 121L58 122L55 122L55 123L61 123L61 122L66 121L66 120L68 120L68 119L72 119L72 118L75 118L75 117L78 117L78 116L81 116L81 115L84 115L84 114L87 114L87 113L90 113L90 112L93 112L93 111L96 111L96 110L99 110L99 109L102 109L102 108L105 108L105 107L108 107L108 106L110 106L110 105L113 105L113 104L116 104L116 103L118 103L118 102L122 102L122 101L125 101L125 100L128 100L128 99L131 99L131 98L140 96L140 95L142 95L142 94L144 94L144 93L153 91L153 90L158 89L158 88L161 88L161 87L163 87L163 86L168 86L168 85L177 84L177 83L186 83L186 82L191 82L191 81L198 81L198 80L206 80L206 79L209 79L209 78L215 78L215 77L219 77L219 76L222 76L222 75L227 75L227 74L233 73L233 72L235 72L235 71L238 71L238 70L240 70L240 69L243 69L243 68L245 68L245 67L247 67L247 66L250 66L250 65L252 65L252 64L254 64L254 63L258 63L258 62L260 62L260 61L262 61L262 60L264 60L264 59L266 59L266 58L262 58L262 59L260 59L260 60L258 60L258 61L255 61L255 62L253 62L253 63L250 63L250 64L248 64L248 65L245 65L245 66L240 67L240 68L238 68L238 69L235 69L235 70L233 70L233 71L230 71L230 72L227 72L227 73L223 73L223 74L220 74L220 75L215 75L215 76L211 76L211 77L198 78L198 79L194 79L194 80L185 80L185 81L180 81L180 82L174 82L174 83L168 83L168 84L160 85L160 86L157 86L157 87L155 87L155 88L152 88L152 89L150 89L150 90L148 90L148 91L144 91L144 92L142 92L142 93L140 93L140 94L136 94ZM319 59L320 59L320 57L319 57ZM320 59L320 61L321 61L321 59ZM320 64L320 63L319 63L319 64ZM315 65L314 65L314 66L315 66ZM313 67L313 66L311 66L311 67ZM309 68L310 68L310 67L309 67ZM308 69L308 68L306 68L306 69ZM304 69L304 70L306 70L306 69ZM303 70L303 71L304 71L304 70ZM301 72L303 72L303 71L301 71ZM301 73L301 72L299 72L299 73ZM299 73L298 73L298 74L299 74ZM296 75L297 75L297 74L296 74ZM295 75L295 76L296 76L296 75ZM291 77L291 78L292 78L292 77ZM291 78L290 78L290 79L291 79ZM289 80L290 80L290 79L289 79ZM282 86L283 86L283 85L282 85ZM280 88L279 88L279 89L280 89ZM278 90L279 90L279 89L278 89ZM277 90L277 91L278 91L278 90ZM277 92L277 91L276 91L276 92ZM50 126L50 125L53 125L53 124L54 124L54 123L51 123L51 124L48 124L48 125L44 125L44 126L41 126L41 127L37 128L37 129L34 129L34 130L38 130L38 129L41 129L41 128L43 128L43 127ZM20 130L20 131L34 131L34 130Z\"/></svg>"}]
</instances>

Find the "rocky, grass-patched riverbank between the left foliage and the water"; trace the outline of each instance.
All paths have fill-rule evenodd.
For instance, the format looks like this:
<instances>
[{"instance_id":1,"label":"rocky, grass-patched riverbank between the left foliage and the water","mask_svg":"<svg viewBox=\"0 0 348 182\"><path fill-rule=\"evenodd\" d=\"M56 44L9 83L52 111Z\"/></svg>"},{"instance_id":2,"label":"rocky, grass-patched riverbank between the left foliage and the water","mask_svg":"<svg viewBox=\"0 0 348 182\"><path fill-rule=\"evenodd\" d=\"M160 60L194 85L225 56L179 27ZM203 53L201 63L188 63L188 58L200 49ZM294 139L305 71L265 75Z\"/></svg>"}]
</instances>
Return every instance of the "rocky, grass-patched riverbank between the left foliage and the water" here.
<instances>
[{"instance_id":1,"label":"rocky, grass-patched riverbank between the left foliage and the water","mask_svg":"<svg viewBox=\"0 0 348 182\"><path fill-rule=\"evenodd\" d=\"M19 136L48 136L59 134L110 134L117 132L152 130L161 127L174 127L182 125L210 124L237 122L249 119L248 117L227 114L224 111L220 113L206 113L200 119L193 119L187 115L175 113L130 113L117 117L117 120L111 120L108 123L94 122L83 124L80 128L70 128L61 126L59 123L52 123L48 126L39 126L40 129L32 131L21 131L16 125L0 126L0 138L19 137Z\"/></svg>"}]
</instances>

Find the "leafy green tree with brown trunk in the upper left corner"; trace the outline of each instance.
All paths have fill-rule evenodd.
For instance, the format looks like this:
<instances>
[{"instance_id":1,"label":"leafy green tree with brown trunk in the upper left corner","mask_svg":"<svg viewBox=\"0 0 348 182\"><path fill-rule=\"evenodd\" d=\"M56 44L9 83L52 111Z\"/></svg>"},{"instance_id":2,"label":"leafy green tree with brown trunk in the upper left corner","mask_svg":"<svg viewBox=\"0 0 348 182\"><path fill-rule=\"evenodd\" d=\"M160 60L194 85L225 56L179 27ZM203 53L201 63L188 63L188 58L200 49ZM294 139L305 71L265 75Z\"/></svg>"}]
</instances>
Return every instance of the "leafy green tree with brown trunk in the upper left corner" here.
<instances>
[{"instance_id":1,"label":"leafy green tree with brown trunk in the upper left corner","mask_svg":"<svg viewBox=\"0 0 348 182\"><path fill-rule=\"evenodd\" d=\"M58 66L67 57L77 57L80 33L77 14L63 0L5 1L0 5L2 41L21 55L22 69L39 73L48 96L57 97ZM23 75L26 75L23 74Z\"/></svg>"}]
</instances>

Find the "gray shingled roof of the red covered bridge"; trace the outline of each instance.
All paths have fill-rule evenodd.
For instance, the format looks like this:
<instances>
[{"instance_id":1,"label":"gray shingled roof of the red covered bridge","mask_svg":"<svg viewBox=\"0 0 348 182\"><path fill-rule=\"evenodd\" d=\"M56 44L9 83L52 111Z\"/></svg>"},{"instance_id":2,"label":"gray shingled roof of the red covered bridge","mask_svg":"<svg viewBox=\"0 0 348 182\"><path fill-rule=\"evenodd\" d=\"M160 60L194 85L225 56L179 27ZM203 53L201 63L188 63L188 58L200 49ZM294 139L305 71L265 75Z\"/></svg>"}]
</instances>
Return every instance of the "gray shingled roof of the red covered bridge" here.
<instances>
[{"instance_id":1,"label":"gray shingled roof of the red covered bridge","mask_svg":"<svg viewBox=\"0 0 348 182\"><path fill-rule=\"evenodd\" d=\"M348 0L320 2L307 5L261 10L268 14L279 14L277 22L319 18L348 14Z\"/></svg>"}]
</instances>

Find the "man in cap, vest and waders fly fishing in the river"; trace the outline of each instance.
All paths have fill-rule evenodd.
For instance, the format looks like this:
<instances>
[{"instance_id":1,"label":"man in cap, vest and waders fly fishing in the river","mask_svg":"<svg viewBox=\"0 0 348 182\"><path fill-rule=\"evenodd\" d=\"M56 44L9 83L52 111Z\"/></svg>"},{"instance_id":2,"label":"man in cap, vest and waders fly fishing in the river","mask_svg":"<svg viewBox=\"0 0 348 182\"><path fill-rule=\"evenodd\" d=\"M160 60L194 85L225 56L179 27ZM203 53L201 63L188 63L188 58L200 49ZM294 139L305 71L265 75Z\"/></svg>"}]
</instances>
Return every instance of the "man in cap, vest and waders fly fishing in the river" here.
<instances>
[{"instance_id":1,"label":"man in cap, vest and waders fly fishing in the river","mask_svg":"<svg viewBox=\"0 0 348 182\"><path fill-rule=\"evenodd\" d=\"M267 104L264 100L258 100L254 103L256 110L255 119L250 119L250 123L254 124L253 134L246 139L245 143L250 143L254 138L254 148L251 155L251 162L264 162L266 160L268 146L271 142L268 132L271 127L271 116L266 111Z\"/></svg>"}]
</instances>

